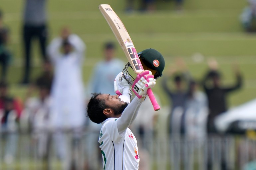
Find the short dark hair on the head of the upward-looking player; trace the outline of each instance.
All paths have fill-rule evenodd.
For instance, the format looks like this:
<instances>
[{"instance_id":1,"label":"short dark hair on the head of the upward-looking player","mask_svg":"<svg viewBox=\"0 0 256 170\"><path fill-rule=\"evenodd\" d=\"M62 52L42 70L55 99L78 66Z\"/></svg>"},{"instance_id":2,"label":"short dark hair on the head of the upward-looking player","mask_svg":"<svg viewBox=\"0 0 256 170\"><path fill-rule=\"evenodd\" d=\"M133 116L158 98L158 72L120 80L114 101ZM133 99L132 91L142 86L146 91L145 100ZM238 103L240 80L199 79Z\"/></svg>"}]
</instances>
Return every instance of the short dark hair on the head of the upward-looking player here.
<instances>
[{"instance_id":1,"label":"short dark hair on the head of the upward-looking player","mask_svg":"<svg viewBox=\"0 0 256 170\"><path fill-rule=\"evenodd\" d=\"M103 110L106 108L105 100L97 98L101 93L92 93L92 97L87 104L87 116L94 123L100 124L107 119L103 114Z\"/></svg>"}]
</instances>

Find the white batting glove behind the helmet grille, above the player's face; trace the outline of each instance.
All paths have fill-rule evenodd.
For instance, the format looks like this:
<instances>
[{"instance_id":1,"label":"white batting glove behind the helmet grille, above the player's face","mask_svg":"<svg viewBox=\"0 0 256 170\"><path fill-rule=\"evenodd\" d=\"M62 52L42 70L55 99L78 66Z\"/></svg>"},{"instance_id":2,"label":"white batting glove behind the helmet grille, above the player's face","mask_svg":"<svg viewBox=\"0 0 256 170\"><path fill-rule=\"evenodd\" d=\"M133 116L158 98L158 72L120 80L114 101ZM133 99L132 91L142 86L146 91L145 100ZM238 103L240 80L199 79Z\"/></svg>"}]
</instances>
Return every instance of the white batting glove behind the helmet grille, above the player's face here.
<instances>
[{"instance_id":1,"label":"white batting glove behind the helmet grille, above the player's face","mask_svg":"<svg viewBox=\"0 0 256 170\"><path fill-rule=\"evenodd\" d=\"M131 77L126 75L123 75L123 72L120 72L115 80L114 80L114 90L115 93L119 96L123 95L123 92L127 92L130 95L130 99L132 98L132 93L131 93L131 89L130 89L130 85L127 81L132 81ZM126 90L125 90L126 89Z\"/></svg>"}]
</instances>

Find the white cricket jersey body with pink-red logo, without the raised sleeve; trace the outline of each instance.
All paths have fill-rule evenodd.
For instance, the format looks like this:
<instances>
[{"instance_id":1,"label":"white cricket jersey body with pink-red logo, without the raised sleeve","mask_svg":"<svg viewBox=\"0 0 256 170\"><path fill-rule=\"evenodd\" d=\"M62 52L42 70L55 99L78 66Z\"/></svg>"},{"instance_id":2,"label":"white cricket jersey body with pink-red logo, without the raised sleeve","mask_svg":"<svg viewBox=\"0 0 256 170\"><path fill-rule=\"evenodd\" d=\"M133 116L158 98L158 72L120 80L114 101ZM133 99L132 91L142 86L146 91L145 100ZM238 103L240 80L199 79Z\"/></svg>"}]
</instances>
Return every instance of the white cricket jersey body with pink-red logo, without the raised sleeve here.
<instances>
[{"instance_id":1,"label":"white cricket jersey body with pink-red logo, without the raised sleeve","mask_svg":"<svg viewBox=\"0 0 256 170\"><path fill-rule=\"evenodd\" d=\"M117 118L102 122L99 143L104 170L138 170L139 155L137 140L129 128L120 135Z\"/></svg>"}]
</instances>

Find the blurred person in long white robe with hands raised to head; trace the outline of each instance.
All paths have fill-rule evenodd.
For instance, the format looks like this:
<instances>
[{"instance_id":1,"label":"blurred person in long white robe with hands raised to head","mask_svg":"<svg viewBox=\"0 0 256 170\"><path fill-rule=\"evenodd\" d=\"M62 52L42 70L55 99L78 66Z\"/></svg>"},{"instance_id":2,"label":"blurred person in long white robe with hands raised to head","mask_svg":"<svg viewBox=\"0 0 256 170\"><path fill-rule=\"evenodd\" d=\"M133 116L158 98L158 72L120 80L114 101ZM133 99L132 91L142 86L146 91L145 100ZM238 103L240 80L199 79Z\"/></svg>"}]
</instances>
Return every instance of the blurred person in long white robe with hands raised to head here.
<instances>
[{"instance_id":1,"label":"blurred person in long white robe with hands raised to head","mask_svg":"<svg viewBox=\"0 0 256 170\"><path fill-rule=\"evenodd\" d=\"M63 53L60 53L62 48ZM48 48L55 68L51 91L52 125L56 128L77 128L84 125L85 101L81 67L85 44L68 28L53 39Z\"/></svg>"}]
</instances>

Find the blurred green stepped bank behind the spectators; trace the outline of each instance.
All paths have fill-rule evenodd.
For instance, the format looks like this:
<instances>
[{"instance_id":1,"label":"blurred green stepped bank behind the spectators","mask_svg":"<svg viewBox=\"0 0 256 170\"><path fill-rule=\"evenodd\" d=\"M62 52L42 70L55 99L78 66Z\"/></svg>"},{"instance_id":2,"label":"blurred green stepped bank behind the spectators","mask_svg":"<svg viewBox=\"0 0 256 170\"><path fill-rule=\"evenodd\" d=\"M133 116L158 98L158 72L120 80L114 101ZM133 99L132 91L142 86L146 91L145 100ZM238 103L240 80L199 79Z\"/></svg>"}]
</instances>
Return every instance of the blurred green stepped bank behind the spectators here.
<instances>
[{"instance_id":1,"label":"blurred green stepped bank behind the spectators","mask_svg":"<svg viewBox=\"0 0 256 170\"><path fill-rule=\"evenodd\" d=\"M201 78L207 69L207 59L214 57L223 73L224 84L234 81L231 64L239 63L244 77L243 88L230 95L229 106L236 106L256 97L256 34L243 31L239 15L246 0L185 0L184 10L175 11L174 1L156 0L156 11L126 13L126 1L116 0L49 0L48 17L50 40L58 36L63 26L71 28L87 46L83 65L85 85L96 62L102 59L102 44L112 40L114 34L98 10L99 4L110 4L127 28L137 51L155 48L166 61L168 73L176 57L182 57L192 76ZM23 0L0 0L4 23L10 28L9 47L14 54L8 73L11 93L24 98L27 87L19 86L23 73L22 16ZM135 2L135 8L138 2ZM41 71L38 43L33 45L33 73ZM121 47L118 58L126 62ZM199 57L197 61L196 56ZM168 98L158 83L153 91L160 96L162 105Z\"/></svg>"}]
</instances>

